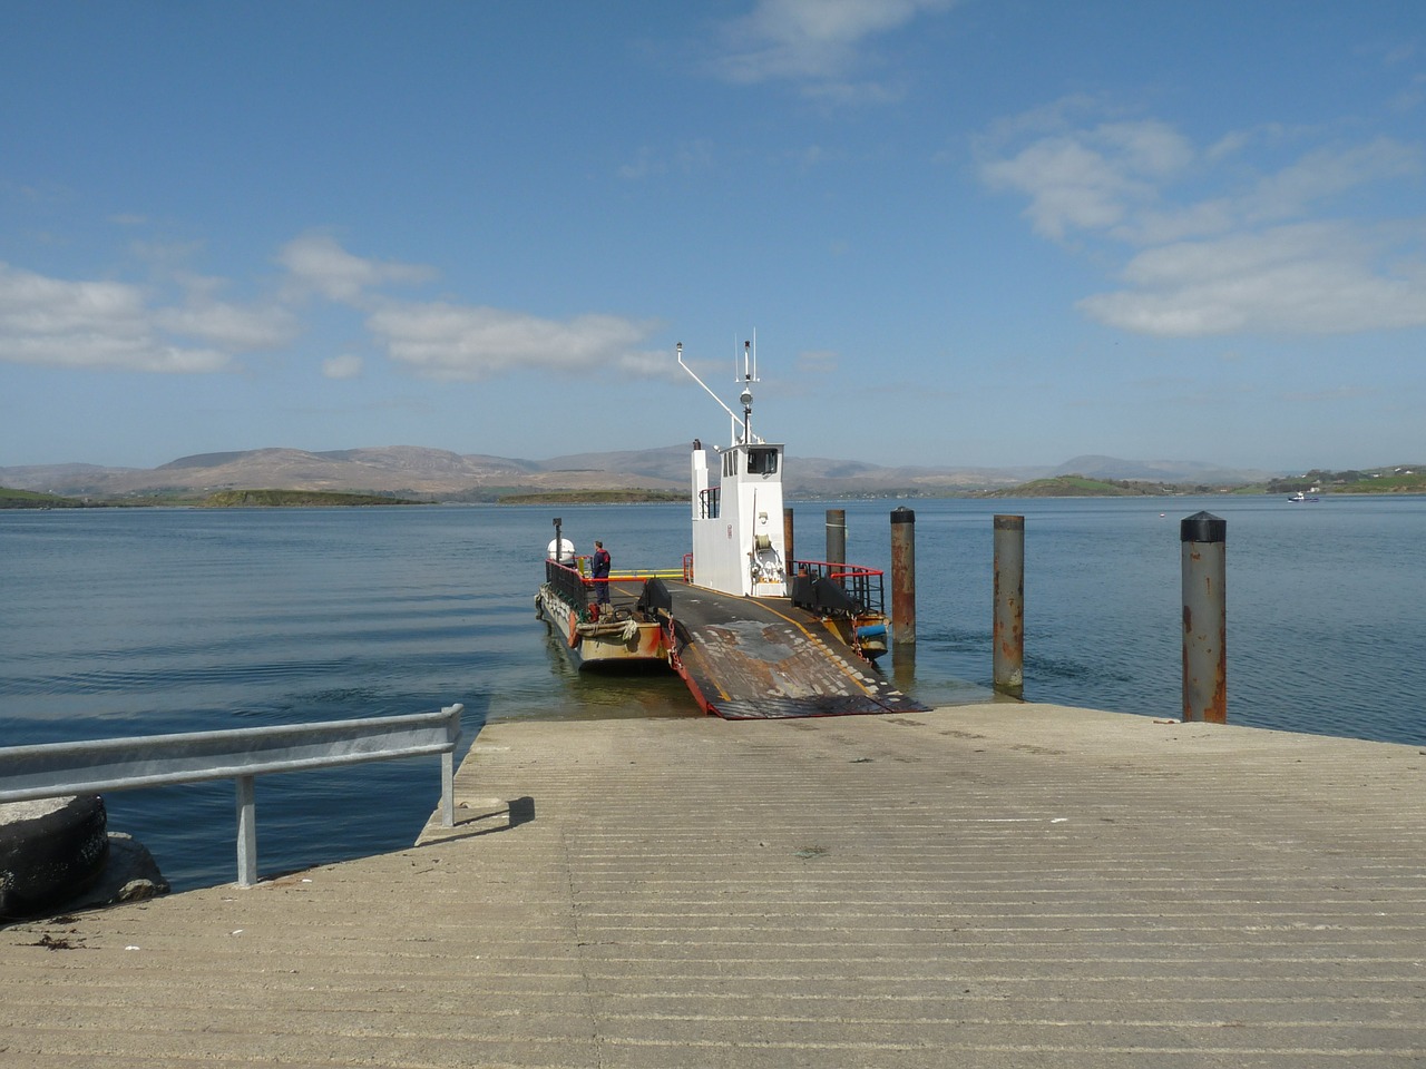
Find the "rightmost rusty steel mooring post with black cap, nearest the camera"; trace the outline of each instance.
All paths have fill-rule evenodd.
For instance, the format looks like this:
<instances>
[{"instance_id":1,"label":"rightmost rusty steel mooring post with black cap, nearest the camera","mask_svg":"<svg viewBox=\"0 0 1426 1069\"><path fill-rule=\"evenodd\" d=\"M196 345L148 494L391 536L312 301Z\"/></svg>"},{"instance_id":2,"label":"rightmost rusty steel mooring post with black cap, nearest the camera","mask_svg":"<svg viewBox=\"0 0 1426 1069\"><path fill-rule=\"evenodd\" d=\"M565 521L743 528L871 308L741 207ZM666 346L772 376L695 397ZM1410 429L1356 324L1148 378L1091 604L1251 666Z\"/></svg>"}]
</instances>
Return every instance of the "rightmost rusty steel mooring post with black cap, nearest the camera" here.
<instances>
[{"instance_id":1,"label":"rightmost rusty steel mooring post with black cap, nearest the camera","mask_svg":"<svg viewBox=\"0 0 1426 1069\"><path fill-rule=\"evenodd\" d=\"M1184 557L1184 721L1228 723L1228 520L1196 512L1179 523Z\"/></svg>"}]
</instances>

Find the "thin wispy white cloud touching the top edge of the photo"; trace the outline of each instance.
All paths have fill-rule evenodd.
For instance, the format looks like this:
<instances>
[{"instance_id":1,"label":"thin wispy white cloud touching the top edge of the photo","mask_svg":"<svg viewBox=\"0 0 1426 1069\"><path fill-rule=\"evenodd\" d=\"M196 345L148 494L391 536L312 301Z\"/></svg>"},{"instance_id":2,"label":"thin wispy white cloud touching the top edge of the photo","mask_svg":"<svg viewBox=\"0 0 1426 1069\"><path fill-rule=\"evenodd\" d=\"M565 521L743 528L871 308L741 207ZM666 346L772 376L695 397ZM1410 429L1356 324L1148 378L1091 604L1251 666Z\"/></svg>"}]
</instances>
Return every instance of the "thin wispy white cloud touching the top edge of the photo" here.
<instances>
[{"instance_id":1,"label":"thin wispy white cloud touching the top edge of the photo","mask_svg":"<svg viewBox=\"0 0 1426 1069\"><path fill-rule=\"evenodd\" d=\"M713 73L732 83L790 80L804 91L836 98L891 98L888 87L857 81L871 60L868 38L897 30L923 13L944 11L955 0L759 0L744 17L724 26L727 48Z\"/></svg>"}]
</instances>

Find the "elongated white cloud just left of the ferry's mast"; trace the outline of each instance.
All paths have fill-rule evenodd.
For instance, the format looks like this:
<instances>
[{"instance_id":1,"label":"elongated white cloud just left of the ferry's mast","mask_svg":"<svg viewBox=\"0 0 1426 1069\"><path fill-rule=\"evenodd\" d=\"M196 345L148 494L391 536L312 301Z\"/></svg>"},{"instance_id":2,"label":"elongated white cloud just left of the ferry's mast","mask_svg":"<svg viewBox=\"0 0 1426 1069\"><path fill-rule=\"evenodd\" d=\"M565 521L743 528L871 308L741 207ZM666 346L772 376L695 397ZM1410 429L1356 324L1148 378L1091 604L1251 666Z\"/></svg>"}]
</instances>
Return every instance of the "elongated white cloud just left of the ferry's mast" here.
<instances>
[{"instance_id":1,"label":"elongated white cloud just left of the ferry's mast","mask_svg":"<svg viewBox=\"0 0 1426 1069\"><path fill-rule=\"evenodd\" d=\"M366 325L391 359L434 379L476 381L525 368L597 379L610 366L659 372L659 361L672 363L633 348L653 332L652 324L613 315L558 322L498 308L391 304Z\"/></svg>"}]
</instances>

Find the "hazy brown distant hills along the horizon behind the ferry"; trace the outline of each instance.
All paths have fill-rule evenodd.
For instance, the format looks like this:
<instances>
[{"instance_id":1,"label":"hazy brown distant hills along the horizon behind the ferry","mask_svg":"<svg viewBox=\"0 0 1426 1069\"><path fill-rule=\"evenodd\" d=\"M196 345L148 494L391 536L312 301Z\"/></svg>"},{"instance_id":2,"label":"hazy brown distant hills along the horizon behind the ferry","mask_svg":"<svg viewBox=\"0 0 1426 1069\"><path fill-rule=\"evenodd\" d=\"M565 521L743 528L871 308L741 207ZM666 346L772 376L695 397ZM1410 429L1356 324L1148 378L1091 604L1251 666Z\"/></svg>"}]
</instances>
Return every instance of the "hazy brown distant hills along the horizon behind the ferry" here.
<instances>
[{"instance_id":1,"label":"hazy brown distant hills along the horizon behind the ferry","mask_svg":"<svg viewBox=\"0 0 1426 1069\"><path fill-rule=\"evenodd\" d=\"M682 443L522 460L421 446L329 452L274 448L183 456L153 469L97 465L0 468L0 486L81 499L154 495L191 497L220 490L255 489L399 495L421 500L495 500L512 493L579 490L682 493L689 479L689 452L690 446ZM1005 489L1071 473L1098 480L1142 479L1219 486L1265 482L1273 475L1235 472L1192 462L1118 460L1108 456L1079 456L1055 468L883 468L858 460L790 455L784 487L789 497L911 497Z\"/></svg>"}]
</instances>

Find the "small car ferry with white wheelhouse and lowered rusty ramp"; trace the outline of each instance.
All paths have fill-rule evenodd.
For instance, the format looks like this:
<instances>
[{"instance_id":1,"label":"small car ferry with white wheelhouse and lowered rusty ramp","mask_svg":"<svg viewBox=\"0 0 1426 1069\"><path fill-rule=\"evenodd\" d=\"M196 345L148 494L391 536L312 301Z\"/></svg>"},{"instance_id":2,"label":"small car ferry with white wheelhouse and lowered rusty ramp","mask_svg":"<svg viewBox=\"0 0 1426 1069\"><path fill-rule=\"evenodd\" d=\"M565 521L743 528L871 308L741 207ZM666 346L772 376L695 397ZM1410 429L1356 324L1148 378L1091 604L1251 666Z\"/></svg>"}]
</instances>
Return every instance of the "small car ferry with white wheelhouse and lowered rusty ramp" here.
<instances>
[{"instance_id":1,"label":"small car ferry with white wheelhouse and lowered rusty ramp","mask_svg":"<svg viewBox=\"0 0 1426 1069\"><path fill-rule=\"evenodd\" d=\"M750 342L743 345L742 412L684 363L682 342L677 361L732 420L726 448L693 440L692 552L680 569L595 577L590 557L575 553L556 519L538 614L579 667L662 661L683 676L707 711L722 716L924 708L857 667L870 667L887 651L883 573L789 557L784 446L753 432L757 378ZM797 666L813 664L799 676ZM867 696L873 707L863 707Z\"/></svg>"}]
</instances>

